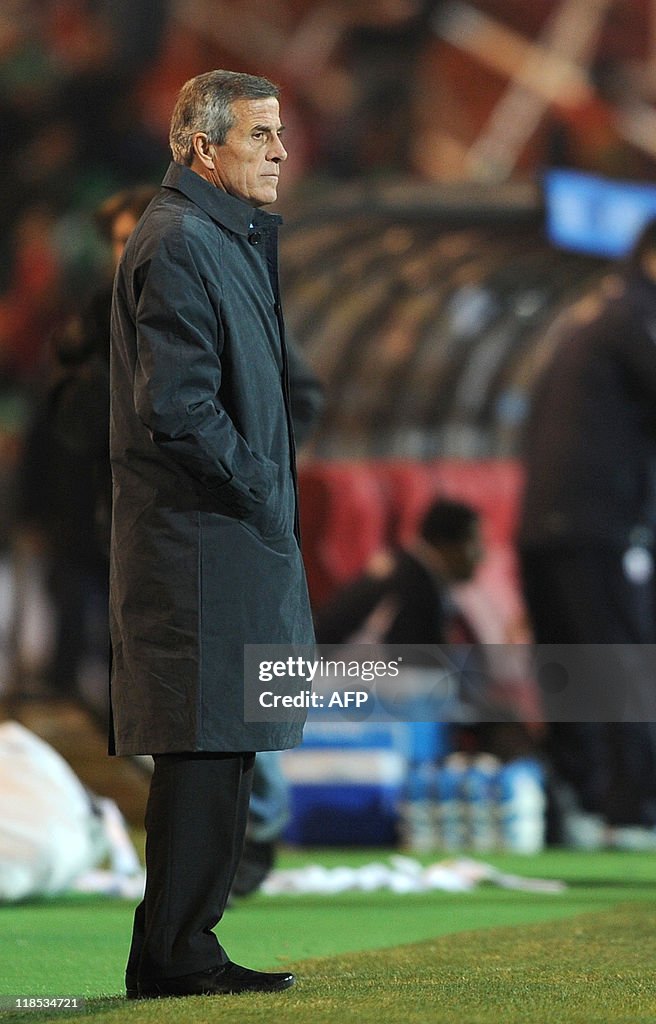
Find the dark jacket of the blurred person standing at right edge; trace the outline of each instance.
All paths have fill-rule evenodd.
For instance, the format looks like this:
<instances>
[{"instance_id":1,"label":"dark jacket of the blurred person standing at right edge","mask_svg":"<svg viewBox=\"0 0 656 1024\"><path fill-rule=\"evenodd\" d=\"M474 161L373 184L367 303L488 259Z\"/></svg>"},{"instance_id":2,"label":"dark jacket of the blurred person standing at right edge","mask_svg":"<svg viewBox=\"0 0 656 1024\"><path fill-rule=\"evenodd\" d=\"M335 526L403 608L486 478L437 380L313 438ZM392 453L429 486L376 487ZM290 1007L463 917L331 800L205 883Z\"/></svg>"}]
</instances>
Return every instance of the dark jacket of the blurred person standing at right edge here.
<instances>
[{"instance_id":1,"label":"dark jacket of the blurred person standing at right edge","mask_svg":"<svg viewBox=\"0 0 656 1024\"><path fill-rule=\"evenodd\" d=\"M532 400L523 547L651 544L656 282L638 270L558 344Z\"/></svg>"}]
</instances>

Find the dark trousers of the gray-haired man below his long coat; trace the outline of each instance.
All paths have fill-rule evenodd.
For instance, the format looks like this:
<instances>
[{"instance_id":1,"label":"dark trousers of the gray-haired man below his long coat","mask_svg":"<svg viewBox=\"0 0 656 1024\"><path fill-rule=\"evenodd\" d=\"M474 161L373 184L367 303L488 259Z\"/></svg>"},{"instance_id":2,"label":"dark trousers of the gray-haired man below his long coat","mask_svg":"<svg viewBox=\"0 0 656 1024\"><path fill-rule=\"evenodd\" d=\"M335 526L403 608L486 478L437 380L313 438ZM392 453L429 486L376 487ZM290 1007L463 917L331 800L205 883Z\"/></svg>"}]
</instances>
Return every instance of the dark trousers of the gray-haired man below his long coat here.
<instances>
[{"instance_id":1,"label":"dark trousers of the gray-haired man below his long coat","mask_svg":"<svg viewBox=\"0 0 656 1024\"><path fill-rule=\"evenodd\" d=\"M228 959L212 930L242 855L255 755L166 754L154 760L145 893L134 914L130 984Z\"/></svg>"}]
</instances>

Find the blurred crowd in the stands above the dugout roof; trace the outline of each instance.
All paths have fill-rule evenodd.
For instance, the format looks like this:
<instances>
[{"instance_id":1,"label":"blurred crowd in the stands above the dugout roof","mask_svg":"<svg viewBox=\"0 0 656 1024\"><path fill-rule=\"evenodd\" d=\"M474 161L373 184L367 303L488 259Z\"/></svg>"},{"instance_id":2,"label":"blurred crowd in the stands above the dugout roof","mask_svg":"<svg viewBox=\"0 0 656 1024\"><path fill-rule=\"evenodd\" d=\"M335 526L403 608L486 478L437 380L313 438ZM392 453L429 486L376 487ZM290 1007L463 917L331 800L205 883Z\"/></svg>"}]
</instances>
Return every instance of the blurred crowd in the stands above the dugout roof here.
<instances>
[{"instance_id":1,"label":"blurred crowd in the stands above the dugout roof","mask_svg":"<svg viewBox=\"0 0 656 1024\"><path fill-rule=\"evenodd\" d=\"M89 214L160 179L174 96L199 69L282 86L288 205L344 181L504 181L550 163L646 177L655 20L650 0L7 0L4 377L42 370L106 259Z\"/></svg>"}]
</instances>

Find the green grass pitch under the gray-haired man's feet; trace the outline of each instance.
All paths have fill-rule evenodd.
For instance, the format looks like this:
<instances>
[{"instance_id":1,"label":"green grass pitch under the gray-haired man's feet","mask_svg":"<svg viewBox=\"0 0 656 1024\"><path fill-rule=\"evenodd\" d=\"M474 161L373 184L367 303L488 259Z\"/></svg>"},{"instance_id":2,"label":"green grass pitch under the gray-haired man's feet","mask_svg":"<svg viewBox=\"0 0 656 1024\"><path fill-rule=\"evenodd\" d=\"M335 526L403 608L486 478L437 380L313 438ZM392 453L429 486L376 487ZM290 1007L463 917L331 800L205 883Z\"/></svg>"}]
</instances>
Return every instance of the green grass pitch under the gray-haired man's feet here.
<instances>
[{"instance_id":1,"label":"green grass pitch under the gray-haired man's feet","mask_svg":"<svg viewBox=\"0 0 656 1024\"><path fill-rule=\"evenodd\" d=\"M358 866L385 851L291 851L280 866ZM439 859L424 857L425 861ZM2 1019L71 1024L654 1024L656 858L548 851L489 855L561 879L559 895L481 886L468 894L257 895L220 936L233 959L292 968L275 995L128 1002L133 904L70 896L0 910ZM84 1010L12 1011L18 996L83 996Z\"/></svg>"}]
</instances>

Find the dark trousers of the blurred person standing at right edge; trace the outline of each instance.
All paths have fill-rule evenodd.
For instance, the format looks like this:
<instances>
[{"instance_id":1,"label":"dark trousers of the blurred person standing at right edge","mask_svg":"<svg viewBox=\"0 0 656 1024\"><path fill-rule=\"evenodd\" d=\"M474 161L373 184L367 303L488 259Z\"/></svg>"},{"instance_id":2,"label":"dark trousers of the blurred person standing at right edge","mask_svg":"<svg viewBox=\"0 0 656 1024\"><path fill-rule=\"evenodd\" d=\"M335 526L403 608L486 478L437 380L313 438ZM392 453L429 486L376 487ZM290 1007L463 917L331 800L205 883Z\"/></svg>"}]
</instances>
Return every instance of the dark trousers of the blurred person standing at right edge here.
<instances>
[{"instance_id":1,"label":"dark trousers of the blurred person standing at right edge","mask_svg":"<svg viewBox=\"0 0 656 1024\"><path fill-rule=\"evenodd\" d=\"M572 545L521 552L524 596L538 644L599 645L597 668L649 709L656 677L654 579L631 579L618 546ZM615 645L612 649L604 645ZM645 653L643 653L645 651ZM549 695L545 695L549 714ZM647 716L644 716L647 717ZM645 720L555 721L548 753L581 807L612 824L656 824L656 729Z\"/></svg>"}]
</instances>

